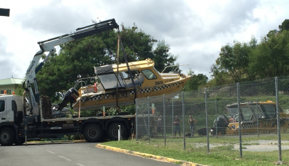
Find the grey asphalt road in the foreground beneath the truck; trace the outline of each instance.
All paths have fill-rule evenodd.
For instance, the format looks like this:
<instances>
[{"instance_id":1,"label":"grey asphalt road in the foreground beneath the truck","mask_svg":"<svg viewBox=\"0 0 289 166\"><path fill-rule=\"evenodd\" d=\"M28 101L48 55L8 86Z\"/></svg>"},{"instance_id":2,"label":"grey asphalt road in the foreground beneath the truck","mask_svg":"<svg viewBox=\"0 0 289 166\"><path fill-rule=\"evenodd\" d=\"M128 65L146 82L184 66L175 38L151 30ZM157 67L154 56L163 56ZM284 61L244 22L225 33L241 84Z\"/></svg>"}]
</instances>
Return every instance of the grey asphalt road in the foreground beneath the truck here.
<instances>
[{"instance_id":1,"label":"grey asphalt road in the foreground beneath the truck","mask_svg":"<svg viewBox=\"0 0 289 166\"><path fill-rule=\"evenodd\" d=\"M122 166L169 166L158 160L122 154L115 151L95 147L95 143L62 143L36 144L21 146L0 146L1 166L91 166L91 165L122 165Z\"/></svg>"}]
</instances>

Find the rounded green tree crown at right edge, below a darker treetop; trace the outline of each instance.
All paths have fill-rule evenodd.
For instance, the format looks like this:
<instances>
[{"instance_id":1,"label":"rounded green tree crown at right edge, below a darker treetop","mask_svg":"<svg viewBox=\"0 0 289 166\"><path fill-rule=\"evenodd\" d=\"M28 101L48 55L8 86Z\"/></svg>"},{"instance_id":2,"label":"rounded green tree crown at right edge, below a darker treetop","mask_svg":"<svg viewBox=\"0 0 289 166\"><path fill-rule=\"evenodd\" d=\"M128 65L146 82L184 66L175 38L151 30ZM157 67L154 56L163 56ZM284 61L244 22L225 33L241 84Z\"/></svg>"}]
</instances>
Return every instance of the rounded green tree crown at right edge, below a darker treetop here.
<instances>
[{"instance_id":1,"label":"rounded green tree crown at right edge, below a darker treetop","mask_svg":"<svg viewBox=\"0 0 289 166\"><path fill-rule=\"evenodd\" d=\"M268 33L252 52L250 67L259 78L289 74L289 33Z\"/></svg>"}]
</instances>

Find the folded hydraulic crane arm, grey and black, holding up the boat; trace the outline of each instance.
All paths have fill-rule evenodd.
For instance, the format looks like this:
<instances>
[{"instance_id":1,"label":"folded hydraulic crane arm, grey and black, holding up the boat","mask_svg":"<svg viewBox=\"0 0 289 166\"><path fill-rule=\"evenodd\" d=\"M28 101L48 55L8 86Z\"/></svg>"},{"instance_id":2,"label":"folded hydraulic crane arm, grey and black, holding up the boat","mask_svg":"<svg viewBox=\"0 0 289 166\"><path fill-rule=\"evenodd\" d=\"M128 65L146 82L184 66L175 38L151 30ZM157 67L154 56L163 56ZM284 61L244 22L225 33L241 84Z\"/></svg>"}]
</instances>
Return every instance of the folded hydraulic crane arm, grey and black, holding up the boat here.
<instances>
[{"instance_id":1,"label":"folded hydraulic crane arm, grey and black, holding up the boat","mask_svg":"<svg viewBox=\"0 0 289 166\"><path fill-rule=\"evenodd\" d=\"M39 93L36 82L36 73L40 70L40 68L44 65L48 57L55 52L55 46L59 46L60 44L65 44L67 42L72 42L75 39L81 39L84 37L88 37L91 35L95 35L98 33L102 33L107 30L113 30L114 28L118 28L118 24L115 22L115 19L109 19L106 21L101 21L97 24L92 24L90 26L84 26L82 28L77 28L75 33L62 35L59 37L54 37L52 39L47 39L42 42L38 42L41 50L39 50L30 62L30 65L26 71L26 91L28 91L28 100L30 108L33 110L33 114L37 115L39 113L38 102L39 102ZM41 56L45 53L49 52L43 62L39 63ZM36 68L37 66L37 68ZM32 92L31 84L35 86L35 95Z\"/></svg>"}]
</instances>

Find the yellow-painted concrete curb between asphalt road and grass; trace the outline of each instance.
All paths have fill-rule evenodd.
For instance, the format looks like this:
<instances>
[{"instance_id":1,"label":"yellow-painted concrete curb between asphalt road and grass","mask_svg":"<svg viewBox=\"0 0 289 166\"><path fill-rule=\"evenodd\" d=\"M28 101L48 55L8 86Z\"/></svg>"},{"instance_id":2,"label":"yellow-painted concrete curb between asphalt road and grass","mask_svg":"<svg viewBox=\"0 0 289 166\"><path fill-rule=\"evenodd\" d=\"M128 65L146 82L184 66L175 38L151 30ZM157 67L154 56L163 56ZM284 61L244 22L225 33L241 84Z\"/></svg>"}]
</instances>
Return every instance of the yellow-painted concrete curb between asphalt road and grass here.
<instances>
[{"instance_id":1,"label":"yellow-painted concrete curb between asphalt road and grass","mask_svg":"<svg viewBox=\"0 0 289 166\"><path fill-rule=\"evenodd\" d=\"M95 145L95 147L108 149L108 150L112 150L112 151L118 151L118 152L122 152L124 154L131 154L131 155L142 156L142 157L147 157L147 158L154 158L154 159L157 159L157 160L167 161L169 163L183 163L182 165L192 165L192 166L208 166L208 165L201 165L201 164L198 164L198 163L192 163L192 162L185 161L185 160L176 160L174 158L156 156L156 155L153 155L153 154L145 154L145 153L140 153L138 151L130 151L130 150L127 150L127 149L120 149L118 147L110 147L110 146L101 145L101 144L97 144L97 145Z\"/></svg>"}]
</instances>

